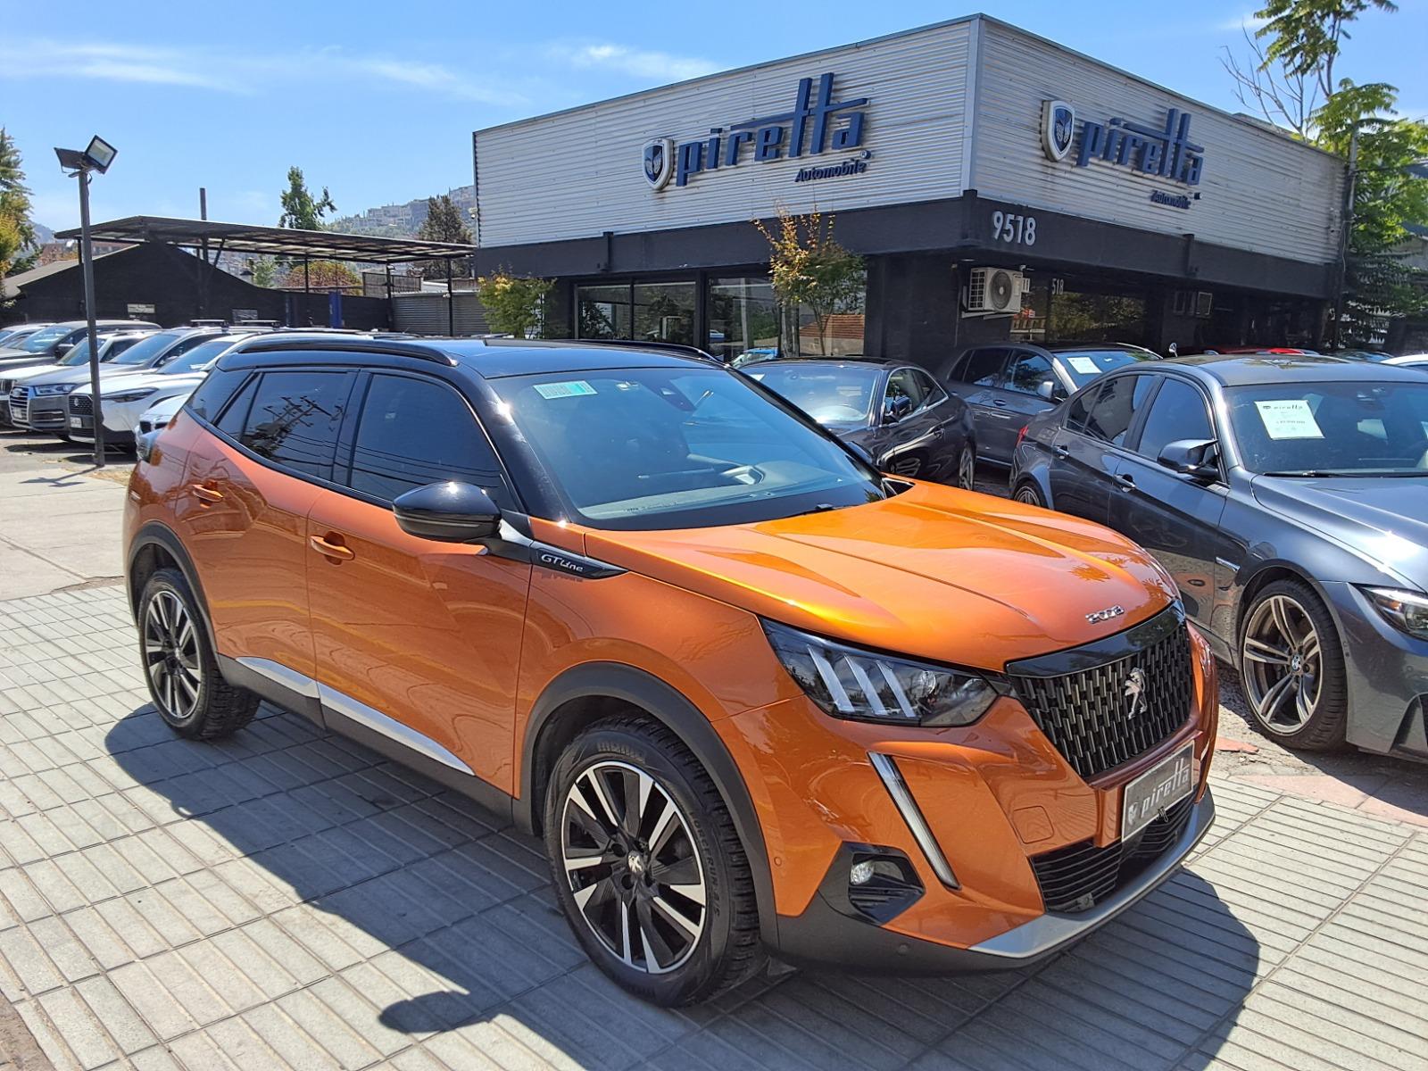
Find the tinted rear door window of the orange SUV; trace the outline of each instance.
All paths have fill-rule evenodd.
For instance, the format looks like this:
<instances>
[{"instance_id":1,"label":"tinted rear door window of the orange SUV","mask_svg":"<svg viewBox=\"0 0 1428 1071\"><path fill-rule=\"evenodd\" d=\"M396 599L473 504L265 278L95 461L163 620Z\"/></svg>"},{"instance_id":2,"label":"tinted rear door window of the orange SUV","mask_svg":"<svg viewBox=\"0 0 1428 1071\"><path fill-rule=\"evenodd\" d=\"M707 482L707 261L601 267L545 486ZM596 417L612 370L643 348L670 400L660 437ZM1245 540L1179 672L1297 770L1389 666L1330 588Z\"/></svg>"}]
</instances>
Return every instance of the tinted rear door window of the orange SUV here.
<instances>
[{"instance_id":1,"label":"tinted rear door window of the orange SUV","mask_svg":"<svg viewBox=\"0 0 1428 1071\"><path fill-rule=\"evenodd\" d=\"M266 373L238 441L258 457L328 480L350 390L346 371Z\"/></svg>"}]
</instances>

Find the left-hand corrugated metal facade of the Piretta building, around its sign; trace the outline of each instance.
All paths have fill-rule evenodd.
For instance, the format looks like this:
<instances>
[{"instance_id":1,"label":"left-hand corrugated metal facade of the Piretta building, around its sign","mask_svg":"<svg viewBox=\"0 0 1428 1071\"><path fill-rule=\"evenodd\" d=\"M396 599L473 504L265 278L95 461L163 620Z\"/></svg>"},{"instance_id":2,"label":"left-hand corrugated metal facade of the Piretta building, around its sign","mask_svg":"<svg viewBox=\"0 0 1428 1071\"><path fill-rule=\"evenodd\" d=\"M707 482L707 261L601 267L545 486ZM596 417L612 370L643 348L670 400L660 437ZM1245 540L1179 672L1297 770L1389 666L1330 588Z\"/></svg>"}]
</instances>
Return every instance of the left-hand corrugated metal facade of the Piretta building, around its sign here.
<instances>
[{"instance_id":1,"label":"left-hand corrugated metal facade of the Piretta building, around its sign","mask_svg":"<svg viewBox=\"0 0 1428 1071\"><path fill-rule=\"evenodd\" d=\"M775 206L824 211L955 197L965 160L968 40L974 21L888 37L758 69L563 111L476 136L478 236L513 246L733 223ZM864 174L795 183L801 167L837 164L833 150L744 163L654 191L641 173L653 137L687 141L793 109L798 80L833 71L837 100L868 97Z\"/></svg>"}]
</instances>

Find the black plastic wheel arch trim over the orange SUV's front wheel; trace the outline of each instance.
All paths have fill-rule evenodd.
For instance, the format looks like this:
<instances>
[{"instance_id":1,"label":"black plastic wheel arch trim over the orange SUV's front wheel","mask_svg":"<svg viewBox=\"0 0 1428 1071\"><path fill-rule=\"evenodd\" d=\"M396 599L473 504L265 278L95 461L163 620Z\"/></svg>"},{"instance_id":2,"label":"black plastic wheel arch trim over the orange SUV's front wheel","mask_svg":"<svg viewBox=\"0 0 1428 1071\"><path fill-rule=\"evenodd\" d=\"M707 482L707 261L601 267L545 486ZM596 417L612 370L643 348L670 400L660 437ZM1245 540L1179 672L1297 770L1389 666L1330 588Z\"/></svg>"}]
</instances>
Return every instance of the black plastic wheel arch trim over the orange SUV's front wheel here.
<instances>
[{"instance_id":1,"label":"black plastic wheel arch trim over the orange SUV's front wheel","mask_svg":"<svg viewBox=\"0 0 1428 1071\"><path fill-rule=\"evenodd\" d=\"M637 711L674 733L708 773L744 845L754 877L764 941L777 945L773 875L753 797L708 717L683 693L644 670L621 663L584 663L553 680L531 710L521 743L521 790L514 801L518 828L541 833L545 785L561 750L587 725Z\"/></svg>"}]
</instances>

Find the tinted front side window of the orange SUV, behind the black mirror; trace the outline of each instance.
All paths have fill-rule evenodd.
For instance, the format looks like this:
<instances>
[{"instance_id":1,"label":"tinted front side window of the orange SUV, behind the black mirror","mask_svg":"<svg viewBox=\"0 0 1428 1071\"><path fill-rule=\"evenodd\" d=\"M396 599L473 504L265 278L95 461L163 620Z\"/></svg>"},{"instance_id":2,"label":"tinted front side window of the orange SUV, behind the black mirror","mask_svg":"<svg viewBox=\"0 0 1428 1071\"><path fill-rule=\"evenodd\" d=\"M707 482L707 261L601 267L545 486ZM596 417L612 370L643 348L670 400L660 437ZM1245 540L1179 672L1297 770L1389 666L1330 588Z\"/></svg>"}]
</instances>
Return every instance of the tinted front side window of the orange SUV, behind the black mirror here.
<instances>
[{"instance_id":1,"label":"tinted front side window of the orange SUV, behind the black mirror","mask_svg":"<svg viewBox=\"0 0 1428 1071\"><path fill-rule=\"evenodd\" d=\"M443 480L476 484L500 500L496 453L466 401L431 380L373 376L347 484L391 501Z\"/></svg>"}]
</instances>

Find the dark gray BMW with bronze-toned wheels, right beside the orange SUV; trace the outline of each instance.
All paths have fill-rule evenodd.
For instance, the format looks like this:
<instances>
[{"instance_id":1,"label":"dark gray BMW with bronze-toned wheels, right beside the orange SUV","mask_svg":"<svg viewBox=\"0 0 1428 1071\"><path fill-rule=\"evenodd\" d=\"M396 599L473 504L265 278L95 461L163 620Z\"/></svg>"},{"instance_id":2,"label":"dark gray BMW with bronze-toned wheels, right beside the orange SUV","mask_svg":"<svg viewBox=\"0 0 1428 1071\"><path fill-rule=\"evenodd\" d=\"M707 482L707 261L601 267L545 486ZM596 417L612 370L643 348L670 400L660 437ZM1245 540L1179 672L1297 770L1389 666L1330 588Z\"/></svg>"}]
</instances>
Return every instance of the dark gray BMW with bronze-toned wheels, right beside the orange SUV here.
<instances>
[{"instance_id":1,"label":"dark gray BMW with bronze-toned wheels, right beside the orange SUV","mask_svg":"<svg viewBox=\"0 0 1428 1071\"><path fill-rule=\"evenodd\" d=\"M1027 428L1024 503L1174 575L1259 727L1428 758L1428 381L1328 357L1124 368Z\"/></svg>"}]
</instances>

